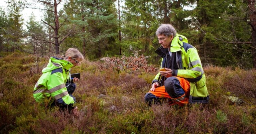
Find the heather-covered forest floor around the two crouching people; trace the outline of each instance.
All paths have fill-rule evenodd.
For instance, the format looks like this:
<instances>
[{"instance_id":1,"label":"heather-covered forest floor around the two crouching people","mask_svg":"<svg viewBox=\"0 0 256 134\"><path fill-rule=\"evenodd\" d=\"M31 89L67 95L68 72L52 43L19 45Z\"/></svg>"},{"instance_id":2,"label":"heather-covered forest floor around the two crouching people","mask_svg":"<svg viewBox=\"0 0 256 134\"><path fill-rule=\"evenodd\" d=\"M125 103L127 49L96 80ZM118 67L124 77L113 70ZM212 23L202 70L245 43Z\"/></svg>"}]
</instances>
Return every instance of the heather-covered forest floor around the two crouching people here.
<instances>
[{"instance_id":1,"label":"heather-covered forest floor around the two crouching people","mask_svg":"<svg viewBox=\"0 0 256 134\"><path fill-rule=\"evenodd\" d=\"M80 112L74 117L33 98L49 57L0 57L0 133L256 133L255 70L203 67L209 104L149 107L144 96L157 71L85 61L71 70L81 73L73 93Z\"/></svg>"}]
</instances>

